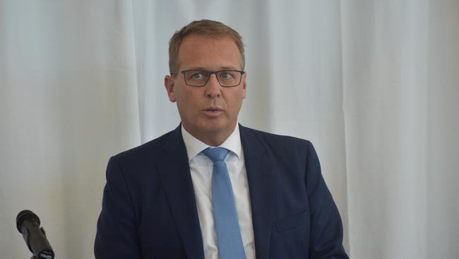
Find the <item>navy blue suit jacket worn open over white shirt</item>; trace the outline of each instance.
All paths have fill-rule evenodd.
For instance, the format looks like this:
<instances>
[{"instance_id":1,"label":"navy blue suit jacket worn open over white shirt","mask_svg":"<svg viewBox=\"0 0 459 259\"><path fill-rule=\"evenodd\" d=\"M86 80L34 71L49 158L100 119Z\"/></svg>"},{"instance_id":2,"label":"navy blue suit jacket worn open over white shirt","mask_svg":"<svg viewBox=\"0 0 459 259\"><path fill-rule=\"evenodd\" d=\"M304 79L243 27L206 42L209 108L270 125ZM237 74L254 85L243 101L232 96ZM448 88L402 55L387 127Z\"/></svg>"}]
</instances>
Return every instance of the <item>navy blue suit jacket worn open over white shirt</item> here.
<instances>
[{"instance_id":1,"label":"navy blue suit jacket worn open over white shirt","mask_svg":"<svg viewBox=\"0 0 459 259\"><path fill-rule=\"evenodd\" d=\"M311 142L239 130L256 258L347 258L340 215ZM109 160L95 257L204 258L180 126Z\"/></svg>"}]
</instances>

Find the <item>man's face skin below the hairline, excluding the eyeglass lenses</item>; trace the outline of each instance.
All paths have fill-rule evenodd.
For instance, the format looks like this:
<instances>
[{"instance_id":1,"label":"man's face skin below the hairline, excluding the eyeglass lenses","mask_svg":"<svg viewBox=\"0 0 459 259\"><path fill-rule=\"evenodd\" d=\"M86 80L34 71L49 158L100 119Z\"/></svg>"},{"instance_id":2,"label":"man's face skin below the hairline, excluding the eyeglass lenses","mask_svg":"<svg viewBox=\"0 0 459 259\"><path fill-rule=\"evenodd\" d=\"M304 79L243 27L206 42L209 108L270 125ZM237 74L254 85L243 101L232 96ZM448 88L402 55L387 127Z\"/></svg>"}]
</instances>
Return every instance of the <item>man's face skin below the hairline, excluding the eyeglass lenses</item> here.
<instances>
[{"instance_id":1,"label":"man's face skin below the hairline, excluding the eyeglass lenses","mask_svg":"<svg viewBox=\"0 0 459 259\"><path fill-rule=\"evenodd\" d=\"M169 100L177 102L182 125L203 142L206 142L206 137L214 135L225 136L226 139L236 127L237 115L246 97L246 74L242 75L239 86L222 87L213 74L205 86L193 87L185 84L184 75L180 71L242 70L237 45L231 38L213 39L188 35L181 42L179 64L178 74L174 77L166 76L165 86Z\"/></svg>"}]
</instances>

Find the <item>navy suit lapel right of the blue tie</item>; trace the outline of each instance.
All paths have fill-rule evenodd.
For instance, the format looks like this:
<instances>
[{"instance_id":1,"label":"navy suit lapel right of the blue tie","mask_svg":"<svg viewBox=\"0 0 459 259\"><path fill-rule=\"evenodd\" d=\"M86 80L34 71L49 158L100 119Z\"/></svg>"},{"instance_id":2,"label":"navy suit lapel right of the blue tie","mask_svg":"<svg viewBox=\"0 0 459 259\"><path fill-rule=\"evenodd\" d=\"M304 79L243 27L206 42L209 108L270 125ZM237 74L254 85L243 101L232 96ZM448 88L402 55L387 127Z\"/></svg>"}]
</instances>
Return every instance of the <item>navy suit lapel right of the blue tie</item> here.
<instances>
[{"instance_id":1,"label":"navy suit lapel right of the blue tie","mask_svg":"<svg viewBox=\"0 0 459 259\"><path fill-rule=\"evenodd\" d=\"M267 259L273 224L274 174L265 146L251 129L239 125L249 181L256 258Z\"/></svg>"}]
</instances>

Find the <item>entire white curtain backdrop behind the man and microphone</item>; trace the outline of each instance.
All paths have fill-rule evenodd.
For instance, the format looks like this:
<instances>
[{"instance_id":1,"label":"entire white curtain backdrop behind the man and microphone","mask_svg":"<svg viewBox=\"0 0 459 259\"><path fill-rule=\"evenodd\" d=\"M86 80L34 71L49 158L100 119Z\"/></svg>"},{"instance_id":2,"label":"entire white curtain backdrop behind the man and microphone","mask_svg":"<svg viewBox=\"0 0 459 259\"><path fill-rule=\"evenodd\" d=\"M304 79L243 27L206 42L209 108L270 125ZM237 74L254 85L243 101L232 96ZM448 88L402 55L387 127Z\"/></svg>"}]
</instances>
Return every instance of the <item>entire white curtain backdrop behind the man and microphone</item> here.
<instances>
[{"instance_id":1,"label":"entire white curtain backdrop behind the man and microphone","mask_svg":"<svg viewBox=\"0 0 459 259\"><path fill-rule=\"evenodd\" d=\"M0 253L93 258L109 156L179 123L169 38L209 18L246 45L239 121L310 139L351 258L458 258L459 1L0 0Z\"/></svg>"}]
</instances>

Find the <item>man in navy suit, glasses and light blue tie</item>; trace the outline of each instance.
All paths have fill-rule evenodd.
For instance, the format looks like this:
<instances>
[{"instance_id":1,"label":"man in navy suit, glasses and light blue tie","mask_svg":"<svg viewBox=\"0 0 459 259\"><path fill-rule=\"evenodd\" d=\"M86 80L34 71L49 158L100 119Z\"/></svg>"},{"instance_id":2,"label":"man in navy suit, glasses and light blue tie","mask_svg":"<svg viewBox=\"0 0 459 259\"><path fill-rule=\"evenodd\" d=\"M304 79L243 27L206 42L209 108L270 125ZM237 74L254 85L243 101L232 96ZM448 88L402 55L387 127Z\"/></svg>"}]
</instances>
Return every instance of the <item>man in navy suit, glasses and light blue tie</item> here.
<instances>
[{"instance_id":1,"label":"man in navy suit, glasses and light blue tie","mask_svg":"<svg viewBox=\"0 0 459 259\"><path fill-rule=\"evenodd\" d=\"M347 258L311 143L238 124L240 35L194 21L169 69L181 125L110 159L96 258Z\"/></svg>"}]
</instances>

